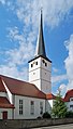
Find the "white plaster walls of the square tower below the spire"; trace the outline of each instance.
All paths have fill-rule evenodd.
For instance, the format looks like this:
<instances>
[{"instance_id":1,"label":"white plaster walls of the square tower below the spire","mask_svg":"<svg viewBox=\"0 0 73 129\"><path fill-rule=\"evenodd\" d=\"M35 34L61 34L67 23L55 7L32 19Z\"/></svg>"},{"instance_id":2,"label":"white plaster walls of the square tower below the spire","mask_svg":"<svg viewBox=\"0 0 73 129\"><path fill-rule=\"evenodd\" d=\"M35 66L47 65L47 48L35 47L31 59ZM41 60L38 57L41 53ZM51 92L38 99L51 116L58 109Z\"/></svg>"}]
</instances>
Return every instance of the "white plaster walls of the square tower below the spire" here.
<instances>
[{"instance_id":1,"label":"white plaster walls of the square tower below the spire","mask_svg":"<svg viewBox=\"0 0 73 129\"><path fill-rule=\"evenodd\" d=\"M35 59L34 61L29 63L29 82L34 83L40 90L44 93L52 92L52 63L44 60L43 57ZM38 62L38 65L35 65ZM47 66L45 66L47 63ZM31 67L33 64L33 67Z\"/></svg>"}]
</instances>

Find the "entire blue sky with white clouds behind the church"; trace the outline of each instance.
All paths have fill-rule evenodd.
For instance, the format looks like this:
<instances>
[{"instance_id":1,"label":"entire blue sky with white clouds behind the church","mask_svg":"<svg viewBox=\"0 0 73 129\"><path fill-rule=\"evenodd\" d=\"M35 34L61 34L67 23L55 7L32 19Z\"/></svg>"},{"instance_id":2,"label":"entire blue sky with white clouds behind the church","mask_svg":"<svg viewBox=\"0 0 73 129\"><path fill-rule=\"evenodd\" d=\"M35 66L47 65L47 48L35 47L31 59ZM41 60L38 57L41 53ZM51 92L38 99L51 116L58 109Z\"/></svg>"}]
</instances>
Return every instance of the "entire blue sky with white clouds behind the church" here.
<instances>
[{"instance_id":1,"label":"entire blue sky with white clouds behind the church","mask_svg":"<svg viewBox=\"0 0 73 129\"><path fill-rule=\"evenodd\" d=\"M73 0L0 0L0 74L28 80L43 8L44 40L52 65L52 91L73 88Z\"/></svg>"}]
</instances>

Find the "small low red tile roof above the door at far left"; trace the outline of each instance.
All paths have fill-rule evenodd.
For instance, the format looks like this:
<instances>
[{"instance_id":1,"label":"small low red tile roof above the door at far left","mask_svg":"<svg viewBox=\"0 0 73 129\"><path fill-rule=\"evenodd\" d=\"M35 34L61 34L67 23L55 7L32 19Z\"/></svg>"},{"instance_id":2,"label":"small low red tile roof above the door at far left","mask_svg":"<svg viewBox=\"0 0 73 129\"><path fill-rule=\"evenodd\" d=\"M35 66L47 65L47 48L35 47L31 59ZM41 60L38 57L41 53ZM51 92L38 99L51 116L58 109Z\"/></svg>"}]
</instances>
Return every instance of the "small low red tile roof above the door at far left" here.
<instances>
[{"instance_id":1,"label":"small low red tile roof above the door at far left","mask_svg":"<svg viewBox=\"0 0 73 129\"><path fill-rule=\"evenodd\" d=\"M14 108L14 105L4 96L0 96L0 108Z\"/></svg>"}]
</instances>

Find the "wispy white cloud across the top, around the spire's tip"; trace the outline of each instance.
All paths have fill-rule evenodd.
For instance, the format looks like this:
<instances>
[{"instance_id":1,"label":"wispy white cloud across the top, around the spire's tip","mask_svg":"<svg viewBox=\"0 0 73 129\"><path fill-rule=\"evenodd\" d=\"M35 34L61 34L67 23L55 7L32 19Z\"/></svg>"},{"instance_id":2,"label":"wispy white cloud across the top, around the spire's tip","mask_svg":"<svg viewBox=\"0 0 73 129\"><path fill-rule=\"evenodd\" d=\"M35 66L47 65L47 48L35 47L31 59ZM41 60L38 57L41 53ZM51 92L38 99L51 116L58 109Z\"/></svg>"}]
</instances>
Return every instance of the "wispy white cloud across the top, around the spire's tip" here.
<instances>
[{"instance_id":1,"label":"wispy white cloud across the top, around the spire's tip","mask_svg":"<svg viewBox=\"0 0 73 129\"><path fill-rule=\"evenodd\" d=\"M17 16L26 25L36 25L40 9L43 8L44 21L50 27L58 26L73 8L73 0L17 0ZM26 14L25 14L26 12Z\"/></svg>"}]
</instances>

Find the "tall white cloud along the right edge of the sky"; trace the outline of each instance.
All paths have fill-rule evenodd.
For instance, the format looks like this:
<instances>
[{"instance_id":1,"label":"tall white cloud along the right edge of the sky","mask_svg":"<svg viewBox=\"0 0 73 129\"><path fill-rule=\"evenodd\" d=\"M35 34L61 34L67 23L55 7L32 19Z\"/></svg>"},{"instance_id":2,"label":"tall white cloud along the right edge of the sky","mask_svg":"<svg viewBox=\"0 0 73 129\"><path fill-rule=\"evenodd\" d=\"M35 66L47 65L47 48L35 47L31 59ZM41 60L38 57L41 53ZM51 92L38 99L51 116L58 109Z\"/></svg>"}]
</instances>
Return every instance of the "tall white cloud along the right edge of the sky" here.
<instances>
[{"instance_id":1,"label":"tall white cloud along the right edge of the sky","mask_svg":"<svg viewBox=\"0 0 73 129\"><path fill-rule=\"evenodd\" d=\"M65 43L67 50L69 51L69 55L64 61L67 76L69 79L69 83L67 86L67 90L73 89L73 35L71 35L70 39Z\"/></svg>"}]
</instances>

